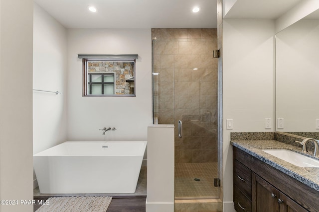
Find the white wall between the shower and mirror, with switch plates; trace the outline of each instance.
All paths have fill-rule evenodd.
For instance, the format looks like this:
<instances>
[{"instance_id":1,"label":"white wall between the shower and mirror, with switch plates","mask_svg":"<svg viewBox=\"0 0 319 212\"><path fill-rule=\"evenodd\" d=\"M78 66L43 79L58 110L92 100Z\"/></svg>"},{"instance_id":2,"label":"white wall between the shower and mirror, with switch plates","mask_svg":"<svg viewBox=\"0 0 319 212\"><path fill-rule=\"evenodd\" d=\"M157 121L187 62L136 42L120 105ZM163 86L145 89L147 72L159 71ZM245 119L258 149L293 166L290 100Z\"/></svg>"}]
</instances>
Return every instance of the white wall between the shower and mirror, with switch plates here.
<instances>
[{"instance_id":1,"label":"white wall between the shower and mirror, with switch plates","mask_svg":"<svg viewBox=\"0 0 319 212\"><path fill-rule=\"evenodd\" d=\"M233 208L230 132L273 132L274 21L223 20L224 211ZM233 119L234 129L226 129Z\"/></svg>"}]
</instances>

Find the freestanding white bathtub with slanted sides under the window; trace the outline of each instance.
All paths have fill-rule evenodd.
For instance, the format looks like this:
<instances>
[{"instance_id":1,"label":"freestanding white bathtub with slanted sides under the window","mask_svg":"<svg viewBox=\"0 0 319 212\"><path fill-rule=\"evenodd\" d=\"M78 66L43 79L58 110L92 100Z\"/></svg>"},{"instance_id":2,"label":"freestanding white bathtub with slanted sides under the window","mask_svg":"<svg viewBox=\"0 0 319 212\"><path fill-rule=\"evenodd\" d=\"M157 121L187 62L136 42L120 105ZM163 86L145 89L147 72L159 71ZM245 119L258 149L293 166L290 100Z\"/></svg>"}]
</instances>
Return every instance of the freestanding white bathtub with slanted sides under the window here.
<instances>
[{"instance_id":1,"label":"freestanding white bathtub with slanted sides under the window","mask_svg":"<svg viewBox=\"0 0 319 212\"><path fill-rule=\"evenodd\" d=\"M66 141L33 155L41 194L135 193L147 141Z\"/></svg>"}]
</instances>

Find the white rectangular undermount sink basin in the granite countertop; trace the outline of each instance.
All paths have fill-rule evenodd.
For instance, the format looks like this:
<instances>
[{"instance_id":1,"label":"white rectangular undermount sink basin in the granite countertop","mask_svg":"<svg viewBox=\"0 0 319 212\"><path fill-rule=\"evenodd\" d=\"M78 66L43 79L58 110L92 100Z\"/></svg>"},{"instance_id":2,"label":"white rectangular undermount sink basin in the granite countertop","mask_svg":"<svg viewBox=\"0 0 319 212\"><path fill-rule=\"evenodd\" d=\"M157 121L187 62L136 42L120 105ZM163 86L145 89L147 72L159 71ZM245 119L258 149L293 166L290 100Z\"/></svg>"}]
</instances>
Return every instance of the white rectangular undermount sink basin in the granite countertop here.
<instances>
[{"instance_id":1,"label":"white rectangular undermount sink basin in the granite countertop","mask_svg":"<svg viewBox=\"0 0 319 212\"><path fill-rule=\"evenodd\" d=\"M262 149L268 154L274 155L282 160L300 167L319 167L319 160L288 149Z\"/></svg>"}]
</instances>

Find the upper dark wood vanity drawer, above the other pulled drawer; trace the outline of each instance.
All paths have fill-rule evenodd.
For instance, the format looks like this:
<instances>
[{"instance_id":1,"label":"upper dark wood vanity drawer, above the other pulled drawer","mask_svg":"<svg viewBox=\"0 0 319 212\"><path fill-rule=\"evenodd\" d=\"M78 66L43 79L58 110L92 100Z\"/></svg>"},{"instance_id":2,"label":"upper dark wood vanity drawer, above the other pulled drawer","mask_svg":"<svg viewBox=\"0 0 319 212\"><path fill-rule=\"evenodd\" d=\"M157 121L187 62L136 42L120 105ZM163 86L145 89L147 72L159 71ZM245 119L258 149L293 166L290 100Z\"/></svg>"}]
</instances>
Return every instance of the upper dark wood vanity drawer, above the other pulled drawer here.
<instances>
[{"instance_id":1,"label":"upper dark wood vanity drawer, above the other pulled drawer","mask_svg":"<svg viewBox=\"0 0 319 212\"><path fill-rule=\"evenodd\" d=\"M234 160L234 185L251 200L251 170Z\"/></svg>"}]
</instances>

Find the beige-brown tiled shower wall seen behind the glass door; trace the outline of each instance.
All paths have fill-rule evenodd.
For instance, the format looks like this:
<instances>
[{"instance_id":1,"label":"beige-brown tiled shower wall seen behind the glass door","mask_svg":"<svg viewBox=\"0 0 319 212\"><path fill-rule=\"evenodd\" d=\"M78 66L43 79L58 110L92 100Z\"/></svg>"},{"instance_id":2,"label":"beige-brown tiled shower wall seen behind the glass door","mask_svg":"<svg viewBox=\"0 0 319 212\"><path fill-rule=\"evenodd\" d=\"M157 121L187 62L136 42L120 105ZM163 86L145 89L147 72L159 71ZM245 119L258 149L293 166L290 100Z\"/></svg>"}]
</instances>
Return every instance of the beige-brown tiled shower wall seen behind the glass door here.
<instances>
[{"instance_id":1,"label":"beige-brown tiled shower wall seen behind the glass door","mask_svg":"<svg viewBox=\"0 0 319 212\"><path fill-rule=\"evenodd\" d=\"M152 37L154 115L175 125L175 162L217 162L217 29L152 29Z\"/></svg>"}]
</instances>

